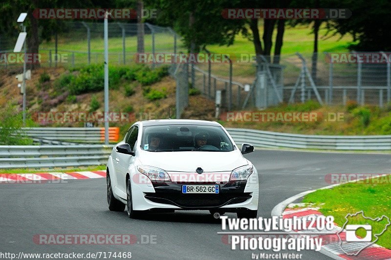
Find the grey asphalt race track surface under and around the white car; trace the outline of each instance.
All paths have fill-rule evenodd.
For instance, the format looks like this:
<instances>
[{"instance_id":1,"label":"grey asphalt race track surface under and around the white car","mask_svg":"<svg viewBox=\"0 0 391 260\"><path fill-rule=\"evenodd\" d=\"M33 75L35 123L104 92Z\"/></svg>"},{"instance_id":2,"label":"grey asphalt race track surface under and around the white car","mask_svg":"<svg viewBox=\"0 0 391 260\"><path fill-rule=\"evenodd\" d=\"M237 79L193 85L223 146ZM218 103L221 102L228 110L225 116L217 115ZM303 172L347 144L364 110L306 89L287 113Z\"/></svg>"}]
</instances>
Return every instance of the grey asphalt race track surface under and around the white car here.
<instances>
[{"instance_id":1,"label":"grey asphalt race track surface under and around the white car","mask_svg":"<svg viewBox=\"0 0 391 260\"><path fill-rule=\"evenodd\" d=\"M290 196L328 186L328 173L391 172L388 154L257 150L245 157L261 175L258 216L262 217L270 217L273 207ZM129 219L125 211L110 212L104 178L0 184L0 200L3 253L131 252L134 259L250 259L252 252L260 253L231 250L217 235L218 220L206 211L151 214L144 219ZM38 234L132 234L138 240L131 245L42 245L33 241ZM150 235L156 243L141 243L141 236L146 242ZM328 259L318 252L300 253L303 259Z\"/></svg>"}]
</instances>

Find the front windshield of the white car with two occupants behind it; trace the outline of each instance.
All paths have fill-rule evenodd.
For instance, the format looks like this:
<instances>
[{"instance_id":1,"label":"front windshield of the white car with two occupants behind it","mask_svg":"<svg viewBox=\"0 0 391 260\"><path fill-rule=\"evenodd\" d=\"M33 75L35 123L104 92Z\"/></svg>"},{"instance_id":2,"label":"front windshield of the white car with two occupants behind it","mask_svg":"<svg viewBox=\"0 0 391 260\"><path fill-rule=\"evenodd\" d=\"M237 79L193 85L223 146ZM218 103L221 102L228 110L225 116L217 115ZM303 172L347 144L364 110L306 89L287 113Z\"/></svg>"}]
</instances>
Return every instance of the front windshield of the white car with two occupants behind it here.
<instances>
[{"instance_id":1,"label":"front windshield of the white car with two occupants behind it","mask_svg":"<svg viewBox=\"0 0 391 260\"><path fill-rule=\"evenodd\" d=\"M154 125L143 127L141 149L153 152L230 152L234 145L220 126Z\"/></svg>"}]
</instances>

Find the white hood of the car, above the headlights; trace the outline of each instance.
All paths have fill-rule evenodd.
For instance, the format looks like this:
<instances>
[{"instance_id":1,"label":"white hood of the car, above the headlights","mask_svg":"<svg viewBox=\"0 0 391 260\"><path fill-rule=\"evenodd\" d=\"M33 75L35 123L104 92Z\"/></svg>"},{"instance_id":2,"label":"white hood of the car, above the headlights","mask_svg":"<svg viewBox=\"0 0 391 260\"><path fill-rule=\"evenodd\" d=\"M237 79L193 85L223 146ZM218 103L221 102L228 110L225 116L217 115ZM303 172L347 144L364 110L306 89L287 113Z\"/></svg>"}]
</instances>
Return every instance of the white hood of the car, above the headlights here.
<instances>
[{"instance_id":1,"label":"white hood of the car, above the headlights","mask_svg":"<svg viewBox=\"0 0 391 260\"><path fill-rule=\"evenodd\" d=\"M195 172L201 167L204 172L232 171L248 165L237 150L231 152L149 152L140 151L139 160L143 165L161 168L165 171Z\"/></svg>"}]
</instances>

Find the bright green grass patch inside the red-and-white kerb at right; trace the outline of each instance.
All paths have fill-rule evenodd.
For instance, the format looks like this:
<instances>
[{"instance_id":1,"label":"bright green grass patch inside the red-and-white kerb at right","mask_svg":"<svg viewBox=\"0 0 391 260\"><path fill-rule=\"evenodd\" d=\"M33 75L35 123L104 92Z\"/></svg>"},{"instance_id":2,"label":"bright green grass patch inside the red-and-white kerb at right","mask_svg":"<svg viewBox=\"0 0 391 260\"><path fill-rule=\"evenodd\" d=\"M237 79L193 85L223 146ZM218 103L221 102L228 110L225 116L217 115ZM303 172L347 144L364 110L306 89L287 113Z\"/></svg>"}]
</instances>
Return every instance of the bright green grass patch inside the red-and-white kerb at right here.
<instances>
[{"instance_id":1,"label":"bright green grass patch inside the red-and-white kerb at right","mask_svg":"<svg viewBox=\"0 0 391 260\"><path fill-rule=\"evenodd\" d=\"M391 176L379 177L372 181L360 183L348 183L333 189L321 189L304 197L304 203L315 203L324 215L334 216L335 223L342 227L346 222L348 213L364 211L365 216L376 218L386 215L391 219ZM366 219L354 217L349 219L349 224L365 224ZM381 231L387 221L369 223L372 232ZM358 232L359 236L365 236L365 232ZM377 244L391 249L391 226L379 237Z\"/></svg>"}]
</instances>

